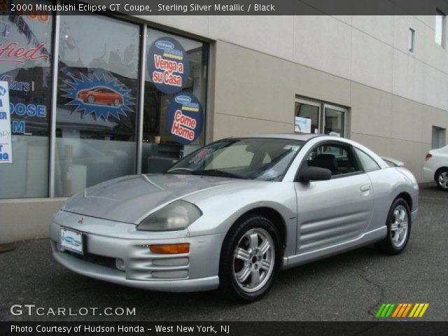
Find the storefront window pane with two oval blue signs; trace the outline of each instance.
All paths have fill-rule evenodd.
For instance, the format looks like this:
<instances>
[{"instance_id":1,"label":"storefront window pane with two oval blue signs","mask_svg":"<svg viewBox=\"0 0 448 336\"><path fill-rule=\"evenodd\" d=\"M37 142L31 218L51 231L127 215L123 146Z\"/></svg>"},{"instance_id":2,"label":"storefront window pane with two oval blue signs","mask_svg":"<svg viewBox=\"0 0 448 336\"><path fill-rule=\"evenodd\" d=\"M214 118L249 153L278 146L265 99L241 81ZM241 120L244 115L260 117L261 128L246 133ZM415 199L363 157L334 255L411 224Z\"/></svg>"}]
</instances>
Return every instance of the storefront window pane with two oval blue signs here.
<instances>
[{"instance_id":1,"label":"storefront window pane with two oval blue signs","mask_svg":"<svg viewBox=\"0 0 448 336\"><path fill-rule=\"evenodd\" d=\"M204 145L207 45L148 29L143 173L162 172Z\"/></svg>"}]
</instances>

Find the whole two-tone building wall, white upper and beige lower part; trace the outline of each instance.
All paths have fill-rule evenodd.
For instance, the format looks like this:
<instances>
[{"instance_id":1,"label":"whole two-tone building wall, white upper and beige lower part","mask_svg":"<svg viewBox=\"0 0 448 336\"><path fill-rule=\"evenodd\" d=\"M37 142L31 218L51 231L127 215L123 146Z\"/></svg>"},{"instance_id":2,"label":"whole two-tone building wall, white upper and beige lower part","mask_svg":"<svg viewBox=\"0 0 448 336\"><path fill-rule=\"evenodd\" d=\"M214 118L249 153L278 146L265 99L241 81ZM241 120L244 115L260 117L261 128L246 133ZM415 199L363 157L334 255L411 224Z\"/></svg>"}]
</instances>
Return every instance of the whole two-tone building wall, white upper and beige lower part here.
<instances>
[{"instance_id":1,"label":"whole two-tone building wall, white upper and beige lower part","mask_svg":"<svg viewBox=\"0 0 448 336\"><path fill-rule=\"evenodd\" d=\"M432 127L448 128L448 48L435 43L434 15L148 20L216 41L213 139L293 132L296 95L321 99L349 107L351 139L423 181Z\"/></svg>"}]
</instances>

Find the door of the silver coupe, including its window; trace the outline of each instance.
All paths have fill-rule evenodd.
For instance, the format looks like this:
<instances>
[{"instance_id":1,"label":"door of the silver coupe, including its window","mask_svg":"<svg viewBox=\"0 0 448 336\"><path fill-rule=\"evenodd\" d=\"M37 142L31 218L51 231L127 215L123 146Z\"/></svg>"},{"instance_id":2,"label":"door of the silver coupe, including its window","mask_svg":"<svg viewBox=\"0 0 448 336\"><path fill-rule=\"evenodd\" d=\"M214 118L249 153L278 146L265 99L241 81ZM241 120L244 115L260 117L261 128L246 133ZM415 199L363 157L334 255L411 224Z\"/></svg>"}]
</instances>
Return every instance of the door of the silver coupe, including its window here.
<instances>
[{"instance_id":1,"label":"door of the silver coupe, including its window","mask_svg":"<svg viewBox=\"0 0 448 336\"><path fill-rule=\"evenodd\" d=\"M341 142L318 144L300 167L306 165L330 169L332 177L295 182L297 254L360 237L372 216L373 190L353 148Z\"/></svg>"}]
</instances>

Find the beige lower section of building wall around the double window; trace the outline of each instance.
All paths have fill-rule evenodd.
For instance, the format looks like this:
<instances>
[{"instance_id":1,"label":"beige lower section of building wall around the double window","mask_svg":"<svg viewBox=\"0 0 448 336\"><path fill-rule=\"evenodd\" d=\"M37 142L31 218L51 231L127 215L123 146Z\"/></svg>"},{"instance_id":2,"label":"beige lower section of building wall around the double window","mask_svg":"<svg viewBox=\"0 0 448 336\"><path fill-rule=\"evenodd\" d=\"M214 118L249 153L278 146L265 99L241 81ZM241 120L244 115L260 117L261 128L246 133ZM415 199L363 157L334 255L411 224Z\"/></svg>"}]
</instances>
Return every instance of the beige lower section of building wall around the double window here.
<instances>
[{"instance_id":1,"label":"beige lower section of building wall around the double window","mask_svg":"<svg viewBox=\"0 0 448 336\"><path fill-rule=\"evenodd\" d=\"M349 106L349 137L402 160L419 181L432 125L448 127L442 109L223 41L216 43L215 85L215 139L293 132L300 94Z\"/></svg>"}]
</instances>

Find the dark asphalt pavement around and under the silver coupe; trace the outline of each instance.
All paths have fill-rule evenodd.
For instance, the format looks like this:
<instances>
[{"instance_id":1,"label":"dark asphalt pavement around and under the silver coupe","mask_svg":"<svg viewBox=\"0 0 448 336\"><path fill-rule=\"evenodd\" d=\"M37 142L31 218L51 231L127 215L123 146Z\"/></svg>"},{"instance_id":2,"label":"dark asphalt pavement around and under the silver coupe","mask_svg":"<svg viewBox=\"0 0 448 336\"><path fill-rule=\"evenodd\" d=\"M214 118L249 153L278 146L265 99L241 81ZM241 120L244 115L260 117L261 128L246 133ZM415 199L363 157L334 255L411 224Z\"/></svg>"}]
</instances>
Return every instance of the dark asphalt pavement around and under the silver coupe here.
<instances>
[{"instance_id":1,"label":"dark asphalt pavement around and under the silver coupe","mask_svg":"<svg viewBox=\"0 0 448 336\"><path fill-rule=\"evenodd\" d=\"M372 321L381 302L428 302L424 320L448 320L448 193L421 186L419 219L404 253L367 246L283 271L267 297L236 304L215 292L155 293L69 272L52 260L48 239L0 254L0 320ZM135 308L135 316L13 316L13 304Z\"/></svg>"}]
</instances>

